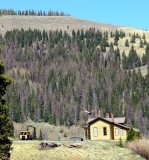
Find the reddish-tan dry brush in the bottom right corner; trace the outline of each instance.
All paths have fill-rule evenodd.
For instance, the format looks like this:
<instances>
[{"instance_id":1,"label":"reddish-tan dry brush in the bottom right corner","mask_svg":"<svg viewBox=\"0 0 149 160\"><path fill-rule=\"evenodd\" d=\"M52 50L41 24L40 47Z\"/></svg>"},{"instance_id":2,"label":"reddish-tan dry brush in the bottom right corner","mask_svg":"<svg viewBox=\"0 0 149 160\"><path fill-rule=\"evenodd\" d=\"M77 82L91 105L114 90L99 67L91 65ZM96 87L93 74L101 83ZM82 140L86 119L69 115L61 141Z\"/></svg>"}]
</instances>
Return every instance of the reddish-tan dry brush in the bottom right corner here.
<instances>
[{"instance_id":1,"label":"reddish-tan dry brush in the bottom right corner","mask_svg":"<svg viewBox=\"0 0 149 160\"><path fill-rule=\"evenodd\" d=\"M142 157L149 160L149 141L148 140L139 140L129 142L126 145L127 148L131 149L137 154L140 154Z\"/></svg>"}]
</instances>

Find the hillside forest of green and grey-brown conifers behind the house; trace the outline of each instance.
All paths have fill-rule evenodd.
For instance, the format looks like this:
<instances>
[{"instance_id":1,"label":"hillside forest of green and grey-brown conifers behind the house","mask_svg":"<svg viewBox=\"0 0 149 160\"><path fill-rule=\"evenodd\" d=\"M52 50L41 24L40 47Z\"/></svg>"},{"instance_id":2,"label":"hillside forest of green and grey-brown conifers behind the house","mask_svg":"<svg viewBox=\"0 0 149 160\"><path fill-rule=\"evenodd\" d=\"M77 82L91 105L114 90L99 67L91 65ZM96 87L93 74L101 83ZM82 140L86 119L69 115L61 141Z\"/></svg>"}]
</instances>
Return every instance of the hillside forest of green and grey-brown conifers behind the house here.
<instances>
[{"instance_id":1,"label":"hillside forest of green and grey-brown conifers behind the house","mask_svg":"<svg viewBox=\"0 0 149 160\"><path fill-rule=\"evenodd\" d=\"M0 36L0 59L13 79L6 95L13 121L28 118L54 125L83 125L84 110L111 111L149 134L149 44L134 33L119 49L124 31L7 31ZM140 57L135 49L144 48Z\"/></svg>"}]
</instances>

